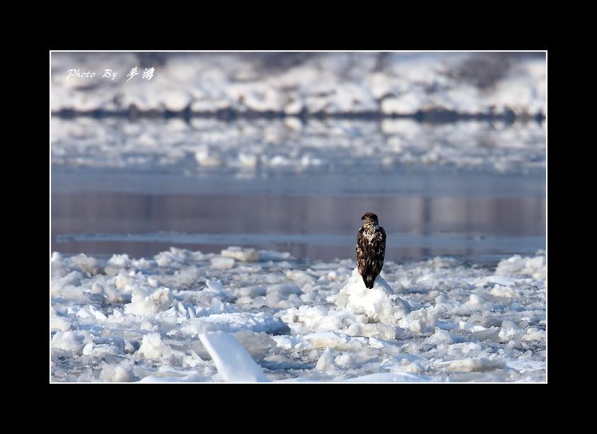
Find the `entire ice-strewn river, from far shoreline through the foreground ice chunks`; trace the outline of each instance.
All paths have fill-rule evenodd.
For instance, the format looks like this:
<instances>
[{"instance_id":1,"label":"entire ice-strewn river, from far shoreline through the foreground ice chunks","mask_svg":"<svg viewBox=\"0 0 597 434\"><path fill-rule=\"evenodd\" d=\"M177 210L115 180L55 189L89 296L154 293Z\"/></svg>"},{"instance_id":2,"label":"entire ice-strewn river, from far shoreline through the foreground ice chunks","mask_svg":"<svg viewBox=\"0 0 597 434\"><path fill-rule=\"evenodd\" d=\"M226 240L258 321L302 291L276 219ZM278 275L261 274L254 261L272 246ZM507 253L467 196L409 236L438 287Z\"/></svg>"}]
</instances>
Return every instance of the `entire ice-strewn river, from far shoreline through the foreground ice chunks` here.
<instances>
[{"instance_id":1,"label":"entire ice-strewn river, from far shoreline through the foreground ice chunks","mask_svg":"<svg viewBox=\"0 0 597 434\"><path fill-rule=\"evenodd\" d=\"M545 381L545 125L295 121L52 119L52 381Z\"/></svg>"}]
</instances>

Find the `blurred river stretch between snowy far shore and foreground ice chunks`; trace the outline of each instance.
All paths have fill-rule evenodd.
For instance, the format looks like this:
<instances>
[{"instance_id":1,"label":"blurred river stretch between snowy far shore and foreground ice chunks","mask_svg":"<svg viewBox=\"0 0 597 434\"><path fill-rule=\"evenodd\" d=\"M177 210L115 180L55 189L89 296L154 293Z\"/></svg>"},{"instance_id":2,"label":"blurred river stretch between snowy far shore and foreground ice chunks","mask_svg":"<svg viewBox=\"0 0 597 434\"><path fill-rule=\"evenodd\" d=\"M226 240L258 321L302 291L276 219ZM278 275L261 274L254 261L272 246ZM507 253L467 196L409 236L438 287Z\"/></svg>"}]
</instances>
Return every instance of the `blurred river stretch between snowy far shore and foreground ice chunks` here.
<instances>
[{"instance_id":1,"label":"blurred river stretch between snowy far shore and foreground ice chunks","mask_svg":"<svg viewBox=\"0 0 597 434\"><path fill-rule=\"evenodd\" d=\"M53 122L53 251L352 258L366 210L395 261L545 249L537 122Z\"/></svg>"}]
</instances>

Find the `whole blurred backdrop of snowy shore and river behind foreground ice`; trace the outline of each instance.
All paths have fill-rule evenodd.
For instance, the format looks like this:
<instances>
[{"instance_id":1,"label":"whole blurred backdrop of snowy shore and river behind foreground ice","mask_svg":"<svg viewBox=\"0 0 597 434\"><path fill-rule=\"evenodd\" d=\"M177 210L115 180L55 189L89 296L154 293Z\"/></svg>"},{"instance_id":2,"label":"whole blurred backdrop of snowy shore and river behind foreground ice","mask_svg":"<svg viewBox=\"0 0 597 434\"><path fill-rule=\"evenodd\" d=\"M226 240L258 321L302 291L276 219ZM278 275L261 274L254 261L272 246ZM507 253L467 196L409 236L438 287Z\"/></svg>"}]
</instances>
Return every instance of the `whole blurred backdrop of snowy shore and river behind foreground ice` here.
<instances>
[{"instance_id":1,"label":"whole blurred backdrop of snowy shore and river behind foreground ice","mask_svg":"<svg viewBox=\"0 0 597 434\"><path fill-rule=\"evenodd\" d=\"M52 251L354 258L366 211L388 233L386 261L545 249L543 52L51 62Z\"/></svg>"}]
</instances>

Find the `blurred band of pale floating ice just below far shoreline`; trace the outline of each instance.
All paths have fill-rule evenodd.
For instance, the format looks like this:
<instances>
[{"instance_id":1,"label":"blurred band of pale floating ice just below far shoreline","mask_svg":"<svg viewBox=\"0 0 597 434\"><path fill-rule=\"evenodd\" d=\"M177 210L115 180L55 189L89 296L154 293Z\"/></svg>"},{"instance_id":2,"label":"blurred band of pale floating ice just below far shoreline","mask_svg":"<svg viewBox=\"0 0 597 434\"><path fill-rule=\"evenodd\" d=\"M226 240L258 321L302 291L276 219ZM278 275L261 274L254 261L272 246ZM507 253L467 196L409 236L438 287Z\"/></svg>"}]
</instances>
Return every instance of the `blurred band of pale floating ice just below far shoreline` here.
<instances>
[{"instance_id":1,"label":"blurred band of pale floating ice just below far shoreline","mask_svg":"<svg viewBox=\"0 0 597 434\"><path fill-rule=\"evenodd\" d=\"M545 171L545 123L52 118L52 164L187 174Z\"/></svg>"}]
</instances>

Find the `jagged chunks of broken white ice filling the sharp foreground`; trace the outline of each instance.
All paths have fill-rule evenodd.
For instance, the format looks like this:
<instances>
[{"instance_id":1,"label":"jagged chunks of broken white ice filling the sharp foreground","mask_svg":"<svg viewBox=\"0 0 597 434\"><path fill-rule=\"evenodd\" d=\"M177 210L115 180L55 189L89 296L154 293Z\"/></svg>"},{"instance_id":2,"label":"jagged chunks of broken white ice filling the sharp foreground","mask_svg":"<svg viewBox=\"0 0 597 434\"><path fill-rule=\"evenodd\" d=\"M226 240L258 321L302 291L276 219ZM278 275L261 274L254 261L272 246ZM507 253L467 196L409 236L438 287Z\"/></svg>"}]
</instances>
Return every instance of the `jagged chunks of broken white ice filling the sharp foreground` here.
<instances>
[{"instance_id":1,"label":"jagged chunks of broken white ice filling the sharp foreground","mask_svg":"<svg viewBox=\"0 0 597 434\"><path fill-rule=\"evenodd\" d=\"M52 381L545 381L545 253L386 261L370 291L354 267L53 253Z\"/></svg>"}]
</instances>

